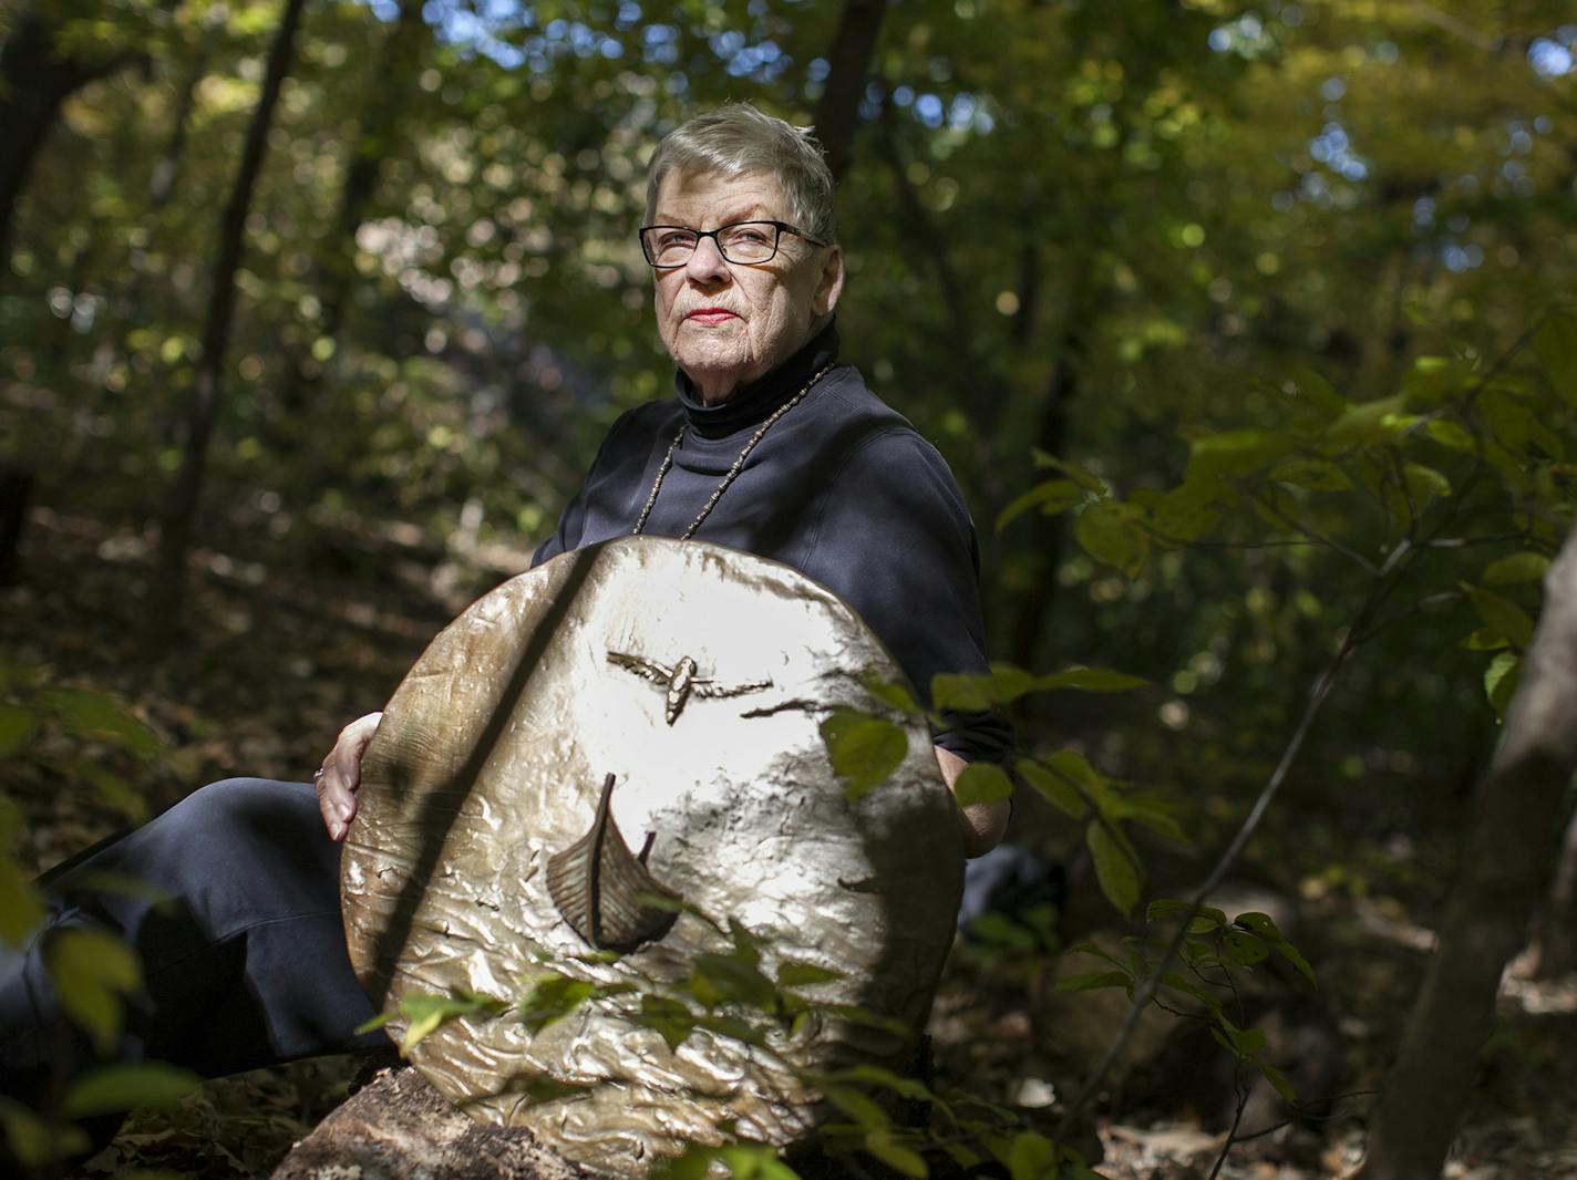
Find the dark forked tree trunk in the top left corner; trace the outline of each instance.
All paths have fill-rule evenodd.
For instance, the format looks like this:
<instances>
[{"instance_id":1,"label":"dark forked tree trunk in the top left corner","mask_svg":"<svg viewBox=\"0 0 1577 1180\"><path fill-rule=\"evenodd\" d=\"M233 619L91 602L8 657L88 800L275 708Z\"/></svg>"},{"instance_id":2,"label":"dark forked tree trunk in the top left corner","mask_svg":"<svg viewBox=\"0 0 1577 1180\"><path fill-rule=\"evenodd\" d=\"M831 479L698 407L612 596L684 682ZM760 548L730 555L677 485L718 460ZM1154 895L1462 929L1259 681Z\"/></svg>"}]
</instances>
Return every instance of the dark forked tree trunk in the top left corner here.
<instances>
[{"instance_id":1,"label":"dark forked tree trunk in the top left corner","mask_svg":"<svg viewBox=\"0 0 1577 1180\"><path fill-rule=\"evenodd\" d=\"M24 14L0 47L0 276L11 263L11 219L17 197L60 104L80 87L114 72L134 54L84 61L60 54L54 30L36 13Z\"/></svg>"}]
</instances>

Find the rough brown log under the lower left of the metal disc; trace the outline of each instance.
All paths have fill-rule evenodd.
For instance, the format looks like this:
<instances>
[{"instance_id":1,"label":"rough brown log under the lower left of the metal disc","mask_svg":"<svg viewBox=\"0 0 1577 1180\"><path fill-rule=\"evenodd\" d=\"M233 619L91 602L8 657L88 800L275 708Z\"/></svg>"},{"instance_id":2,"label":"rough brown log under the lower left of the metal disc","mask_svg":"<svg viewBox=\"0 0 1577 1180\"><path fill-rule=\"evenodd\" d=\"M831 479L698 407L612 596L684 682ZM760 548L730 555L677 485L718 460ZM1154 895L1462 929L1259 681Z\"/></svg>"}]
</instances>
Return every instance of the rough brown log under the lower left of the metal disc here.
<instances>
[{"instance_id":1,"label":"rough brown log under the lower left of the metal disc","mask_svg":"<svg viewBox=\"0 0 1577 1180\"><path fill-rule=\"evenodd\" d=\"M416 1070L380 1074L296 1144L273 1180L576 1180L585 1175L519 1126L484 1126Z\"/></svg>"}]
</instances>

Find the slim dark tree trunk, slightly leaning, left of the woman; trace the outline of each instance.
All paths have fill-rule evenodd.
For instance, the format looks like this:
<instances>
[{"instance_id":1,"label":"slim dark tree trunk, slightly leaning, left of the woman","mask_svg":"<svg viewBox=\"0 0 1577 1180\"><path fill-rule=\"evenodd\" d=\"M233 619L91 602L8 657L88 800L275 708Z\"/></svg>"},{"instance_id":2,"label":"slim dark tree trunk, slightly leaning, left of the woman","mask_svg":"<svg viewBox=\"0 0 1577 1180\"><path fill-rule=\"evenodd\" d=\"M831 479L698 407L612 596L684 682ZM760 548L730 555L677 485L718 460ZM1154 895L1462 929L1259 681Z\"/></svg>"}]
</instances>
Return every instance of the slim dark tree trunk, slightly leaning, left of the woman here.
<instances>
[{"instance_id":1,"label":"slim dark tree trunk, slightly leaning, left of the woman","mask_svg":"<svg viewBox=\"0 0 1577 1180\"><path fill-rule=\"evenodd\" d=\"M285 0L279 32L268 50L268 72L263 90L246 131L246 147L235 173L230 200L219 219L219 250L213 268L213 301L203 325L202 356L192 380L192 400L186 419L186 446L181 468L170 490L169 507L159 536L159 559L155 570L153 591L148 596L148 638L155 648L162 648L180 627L181 592L186 575L186 553L202 503L202 484L208 462L208 441L219 406L224 402L224 351L230 336L230 315L235 309L235 273L241 266L246 239L246 214L262 172L268 148L268 128L273 123L274 104L290 71L290 54L301 9L306 0Z\"/></svg>"}]
</instances>

